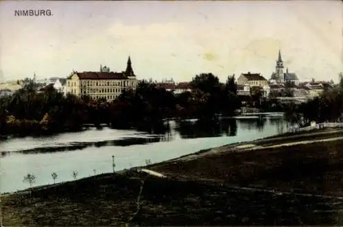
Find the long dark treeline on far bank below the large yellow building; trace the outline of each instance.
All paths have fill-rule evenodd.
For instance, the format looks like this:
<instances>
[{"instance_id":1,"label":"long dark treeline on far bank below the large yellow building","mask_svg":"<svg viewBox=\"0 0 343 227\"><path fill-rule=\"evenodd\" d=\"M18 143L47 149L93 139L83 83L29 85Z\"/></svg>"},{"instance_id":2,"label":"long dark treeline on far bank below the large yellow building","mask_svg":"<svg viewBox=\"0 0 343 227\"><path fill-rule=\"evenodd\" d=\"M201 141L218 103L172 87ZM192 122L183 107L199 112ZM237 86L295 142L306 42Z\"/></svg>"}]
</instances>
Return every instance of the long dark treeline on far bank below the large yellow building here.
<instances>
[{"instance_id":1,"label":"long dark treeline on far bank below the large yellow building","mask_svg":"<svg viewBox=\"0 0 343 227\"><path fill-rule=\"evenodd\" d=\"M84 124L113 128L137 128L144 131L163 130L165 118L210 118L215 113L233 115L239 108L235 75L225 84L212 73L196 75L192 92L179 95L140 82L135 91L128 90L107 102L87 96L64 97L52 86L37 93L28 83L14 95L0 99L0 134L49 134L82 130Z\"/></svg>"}]
</instances>

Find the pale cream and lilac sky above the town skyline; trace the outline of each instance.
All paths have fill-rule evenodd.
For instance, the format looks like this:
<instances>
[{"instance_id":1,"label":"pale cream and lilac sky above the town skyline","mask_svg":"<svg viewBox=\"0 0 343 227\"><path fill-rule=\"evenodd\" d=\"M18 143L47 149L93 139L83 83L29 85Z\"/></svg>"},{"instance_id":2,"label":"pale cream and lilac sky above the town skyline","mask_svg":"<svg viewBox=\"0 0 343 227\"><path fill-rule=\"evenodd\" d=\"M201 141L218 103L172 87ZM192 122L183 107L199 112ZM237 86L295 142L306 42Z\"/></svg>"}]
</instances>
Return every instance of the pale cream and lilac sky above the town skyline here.
<instances>
[{"instance_id":1,"label":"pale cream and lilac sky above the town skyline","mask_svg":"<svg viewBox=\"0 0 343 227\"><path fill-rule=\"evenodd\" d=\"M50 9L53 16L14 16ZM126 69L139 79L274 71L300 80L343 71L341 1L1 1L0 78Z\"/></svg>"}]
</instances>

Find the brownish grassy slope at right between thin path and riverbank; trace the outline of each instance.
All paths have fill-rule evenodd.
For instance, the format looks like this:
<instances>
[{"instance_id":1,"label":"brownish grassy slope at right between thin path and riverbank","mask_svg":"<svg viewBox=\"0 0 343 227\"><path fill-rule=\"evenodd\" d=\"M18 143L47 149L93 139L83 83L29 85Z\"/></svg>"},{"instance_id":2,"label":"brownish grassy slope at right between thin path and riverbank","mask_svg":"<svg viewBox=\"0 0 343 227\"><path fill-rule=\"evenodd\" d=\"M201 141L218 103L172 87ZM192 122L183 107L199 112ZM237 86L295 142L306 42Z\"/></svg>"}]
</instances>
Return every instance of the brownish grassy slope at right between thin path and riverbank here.
<instances>
[{"instance_id":1,"label":"brownish grassy slope at right between thin path and riverbank","mask_svg":"<svg viewBox=\"0 0 343 227\"><path fill-rule=\"evenodd\" d=\"M258 145L270 145L270 142ZM341 139L251 152L220 152L182 162L161 163L150 169L171 176L222 180L241 187L343 196L342 147Z\"/></svg>"}]
</instances>

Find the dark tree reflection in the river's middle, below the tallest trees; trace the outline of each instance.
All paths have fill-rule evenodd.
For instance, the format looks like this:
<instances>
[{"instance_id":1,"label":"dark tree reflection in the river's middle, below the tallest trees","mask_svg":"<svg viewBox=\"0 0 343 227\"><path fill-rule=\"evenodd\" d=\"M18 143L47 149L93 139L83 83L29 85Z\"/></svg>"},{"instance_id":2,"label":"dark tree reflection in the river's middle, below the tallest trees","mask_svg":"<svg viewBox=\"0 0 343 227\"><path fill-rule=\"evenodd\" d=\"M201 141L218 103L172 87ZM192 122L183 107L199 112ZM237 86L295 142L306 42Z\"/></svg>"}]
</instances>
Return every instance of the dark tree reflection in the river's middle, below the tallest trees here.
<instances>
[{"instance_id":1,"label":"dark tree reflection in the river's middle, below the tallest trees","mask_svg":"<svg viewBox=\"0 0 343 227\"><path fill-rule=\"evenodd\" d=\"M235 119L224 119L222 121L177 121L175 130L182 139L236 136L237 122Z\"/></svg>"}]
</instances>

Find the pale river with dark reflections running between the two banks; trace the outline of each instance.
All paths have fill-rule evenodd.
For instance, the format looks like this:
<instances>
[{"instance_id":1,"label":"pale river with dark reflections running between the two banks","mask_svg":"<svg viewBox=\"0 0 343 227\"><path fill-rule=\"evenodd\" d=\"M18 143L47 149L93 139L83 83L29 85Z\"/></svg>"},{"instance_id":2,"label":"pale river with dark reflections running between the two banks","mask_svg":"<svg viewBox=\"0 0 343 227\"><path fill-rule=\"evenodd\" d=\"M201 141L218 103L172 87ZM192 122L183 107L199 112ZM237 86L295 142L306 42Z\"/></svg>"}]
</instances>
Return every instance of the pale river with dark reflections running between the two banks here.
<instances>
[{"instance_id":1,"label":"pale river with dark reflections running between the two banks","mask_svg":"<svg viewBox=\"0 0 343 227\"><path fill-rule=\"evenodd\" d=\"M197 120L168 121L164 134L135 130L89 128L82 132L47 137L25 137L0 141L0 193L26 189L27 174L34 174L34 186L161 162L199 150L261 139L285 132L289 127L282 115L250 115L223 119L210 126Z\"/></svg>"}]
</instances>

